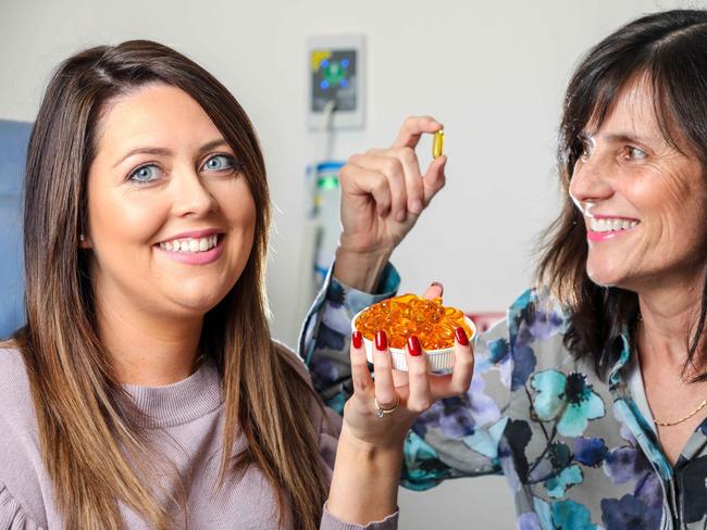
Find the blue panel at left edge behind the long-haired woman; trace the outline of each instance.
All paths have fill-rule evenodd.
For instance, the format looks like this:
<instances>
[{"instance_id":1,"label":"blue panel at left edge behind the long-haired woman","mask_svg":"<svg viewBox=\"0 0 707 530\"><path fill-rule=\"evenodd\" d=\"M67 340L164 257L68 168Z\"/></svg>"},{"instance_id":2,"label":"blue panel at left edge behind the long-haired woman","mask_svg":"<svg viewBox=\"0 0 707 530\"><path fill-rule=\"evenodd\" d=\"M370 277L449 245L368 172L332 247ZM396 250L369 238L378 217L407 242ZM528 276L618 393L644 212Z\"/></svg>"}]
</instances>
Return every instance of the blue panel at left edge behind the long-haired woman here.
<instances>
[{"instance_id":1,"label":"blue panel at left edge behind the long-haired woman","mask_svg":"<svg viewBox=\"0 0 707 530\"><path fill-rule=\"evenodd\" d=\"M0 119L0 338L25 321L22 180L32 124Z\"/></svg>"}]
</instances>

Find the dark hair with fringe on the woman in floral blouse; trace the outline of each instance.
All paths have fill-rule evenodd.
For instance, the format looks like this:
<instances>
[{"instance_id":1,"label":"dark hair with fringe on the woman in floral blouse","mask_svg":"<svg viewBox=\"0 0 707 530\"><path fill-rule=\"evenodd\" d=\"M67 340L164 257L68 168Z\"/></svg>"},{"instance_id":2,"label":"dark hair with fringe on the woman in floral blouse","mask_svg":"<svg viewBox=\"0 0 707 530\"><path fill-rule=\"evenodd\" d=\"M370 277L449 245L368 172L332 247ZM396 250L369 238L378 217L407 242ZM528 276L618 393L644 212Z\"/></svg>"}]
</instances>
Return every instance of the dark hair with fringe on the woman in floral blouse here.
<instances>
[{"instance_id":1,"label":"dark hair with fringe on the woman in floral blouse","mask_svg":"<svg viewBox=\"0 0 707 530\"><path fill-rule=\"evenodd\" d=\"M569 186L583 150L583 128L590 122L600 126L617 97L637 78L653 88L666 141L687 147L707 167L707 11L666 11L627 24L588 51L567 89L557 157L566 193L559 217L545 232L537 278L570 311L566 345L575 358L588 357L600 377L617 361L616 340L624 323L635 321L638 300L634 292L597 286L587 276L586 228ZM683 374L696 366L703 373L695 381L707 380L705 363L696 358L706 315L707 279L686 338Z\"/></svg>"}]
</instances>

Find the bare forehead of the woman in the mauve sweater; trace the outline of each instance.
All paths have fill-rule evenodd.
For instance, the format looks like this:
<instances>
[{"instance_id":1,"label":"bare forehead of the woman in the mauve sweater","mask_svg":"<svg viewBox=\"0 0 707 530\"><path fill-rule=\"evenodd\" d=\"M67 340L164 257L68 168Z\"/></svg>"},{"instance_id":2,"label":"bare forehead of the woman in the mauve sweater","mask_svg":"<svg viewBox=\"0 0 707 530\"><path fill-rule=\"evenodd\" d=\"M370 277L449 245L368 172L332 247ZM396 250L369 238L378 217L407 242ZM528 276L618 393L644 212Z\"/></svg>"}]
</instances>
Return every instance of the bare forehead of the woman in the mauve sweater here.
<instances>
[{"instance_id":1,"label":"bare forehead of the woman in the mauve sweater","mask_svg":"<svg viewBox=\"0 0 707 530\"><path fill-rule=\"evenodd\" d=\"M102 151L190 147L221 137L199 103L169 85L146 85L110 100L99 121L97 155Z\"/></svg>"}]
</instances>

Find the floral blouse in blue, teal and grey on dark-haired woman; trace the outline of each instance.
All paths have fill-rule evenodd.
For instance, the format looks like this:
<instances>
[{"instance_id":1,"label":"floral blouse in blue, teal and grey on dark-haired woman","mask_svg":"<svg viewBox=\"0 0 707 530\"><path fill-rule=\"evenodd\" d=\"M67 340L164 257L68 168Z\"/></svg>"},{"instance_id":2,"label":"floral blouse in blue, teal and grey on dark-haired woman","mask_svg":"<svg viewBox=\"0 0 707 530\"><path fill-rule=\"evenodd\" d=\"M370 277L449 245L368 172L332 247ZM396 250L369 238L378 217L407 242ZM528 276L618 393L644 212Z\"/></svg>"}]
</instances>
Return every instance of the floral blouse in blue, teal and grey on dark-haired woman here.
<instances>
[{"instance_id":1,"label":"floral blouse in blue, teal and grey on dark-haired woman","mask_svg":"<svg viewBox=\"0 0 707 530\"><path fill-rule=\"evenodd\" d=\"M351 316L395 294L388 265L381 294L328 278L300 337L300 355L327 404L351 394ZM568 318L529 290L504 321L476 339L466 395L435 403L408 434L401 483L504 474L518 529L707 528L707 420L674 467L663 455L627 332L616 342L608 381L562 343Z\"/></svg>"}]
</instances>

